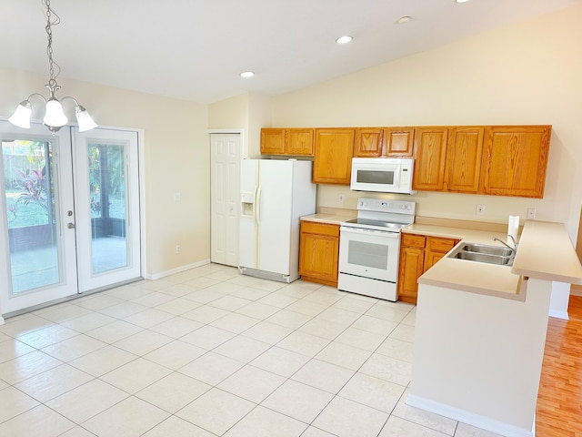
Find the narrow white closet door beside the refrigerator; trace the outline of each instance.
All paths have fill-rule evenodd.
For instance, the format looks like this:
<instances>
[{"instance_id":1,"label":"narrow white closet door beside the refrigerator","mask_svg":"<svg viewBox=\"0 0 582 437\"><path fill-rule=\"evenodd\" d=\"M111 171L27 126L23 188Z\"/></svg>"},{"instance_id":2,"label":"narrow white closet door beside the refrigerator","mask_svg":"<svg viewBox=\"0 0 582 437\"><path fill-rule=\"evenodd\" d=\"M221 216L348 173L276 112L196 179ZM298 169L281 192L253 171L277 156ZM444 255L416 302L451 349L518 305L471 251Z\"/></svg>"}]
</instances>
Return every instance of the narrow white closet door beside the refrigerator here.
<instances>
[{"instance_id":1,"label":"narrow white closet door beside the refrigerator","mask_svg":"<svg viewBox=\"0 0 582 437\"><path fill-rule=\"evenodd\" d=\"M240 134L211 134L210 260L238 266Z\"/></svg>"}]
</instances>

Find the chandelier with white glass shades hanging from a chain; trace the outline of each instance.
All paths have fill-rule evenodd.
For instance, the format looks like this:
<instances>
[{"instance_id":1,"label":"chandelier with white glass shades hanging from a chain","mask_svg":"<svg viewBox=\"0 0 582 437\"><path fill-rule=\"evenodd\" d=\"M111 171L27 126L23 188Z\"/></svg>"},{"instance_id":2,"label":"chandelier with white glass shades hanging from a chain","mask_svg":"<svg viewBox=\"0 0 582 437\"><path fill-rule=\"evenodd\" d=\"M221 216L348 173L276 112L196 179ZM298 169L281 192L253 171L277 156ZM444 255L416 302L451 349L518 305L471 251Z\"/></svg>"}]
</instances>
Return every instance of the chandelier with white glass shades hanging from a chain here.
<instances>
[{"instance_id":1,"label":"chandelier with white glass shades hanging from a chain","mask_svg":"<svg viewBox=\"0 0 582 437\"><path fill-rule=\"evenodd\" d=\"M53 25L58 25L61 19L55 12L51 9L50 0L44 0L46 8L46 38L48 40L48 45L46 46L46 55L48 56L48 73L49 79L46 87L50 93L48 98L38 93L33 93L28 98L16 107L15 113L8 118L8 121L17 127L24 127L25 129L30 128L30 117L32 115L32 105L30 99L32 97L40 97L45 102L45 117L43 118L43 123L45 127L50 130L53 134L57 132L61 127L64 127L68 123L68 118L65 116L65 111L61 102L65 99L71 99L75 102L75 117L79 125L79 131L85 132L86 130L93 129L97 127L93 118L89 115L85 107L79 105L74 97L63 97L59 101L55 97L55 92L60 89L56 83L56 77L61 72L61 67L55 63L53 60ZM55 72L56 71L56 72Z\"/></svg>"}]
</instances>

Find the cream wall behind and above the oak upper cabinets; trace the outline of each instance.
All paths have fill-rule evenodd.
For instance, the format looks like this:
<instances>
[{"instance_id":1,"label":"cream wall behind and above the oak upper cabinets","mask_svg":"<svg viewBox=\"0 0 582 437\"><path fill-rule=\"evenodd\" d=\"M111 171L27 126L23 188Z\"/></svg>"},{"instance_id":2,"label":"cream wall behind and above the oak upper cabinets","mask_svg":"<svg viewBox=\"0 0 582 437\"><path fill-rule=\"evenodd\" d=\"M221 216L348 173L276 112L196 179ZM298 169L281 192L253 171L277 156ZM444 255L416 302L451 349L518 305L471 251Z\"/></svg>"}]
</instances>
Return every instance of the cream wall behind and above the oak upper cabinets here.
<instances>
[{"instance_id":1,"label":"cream wall behind and above the oak upper cabinets","mask_svg":"<svg viewBox=\"0 0 582 437\"><path fill-rule=\"evenodd\" d=\"M553 126L543 199L419 193L417 214L559 221L576 241L582 198L582 5L311 86L272 101L274 127ZM357 40L354 41L357 44ZM318 207L355 208L358 193L320 186ZM476 216L476 205L486 215Z\"/></svg>"}]
</instances>

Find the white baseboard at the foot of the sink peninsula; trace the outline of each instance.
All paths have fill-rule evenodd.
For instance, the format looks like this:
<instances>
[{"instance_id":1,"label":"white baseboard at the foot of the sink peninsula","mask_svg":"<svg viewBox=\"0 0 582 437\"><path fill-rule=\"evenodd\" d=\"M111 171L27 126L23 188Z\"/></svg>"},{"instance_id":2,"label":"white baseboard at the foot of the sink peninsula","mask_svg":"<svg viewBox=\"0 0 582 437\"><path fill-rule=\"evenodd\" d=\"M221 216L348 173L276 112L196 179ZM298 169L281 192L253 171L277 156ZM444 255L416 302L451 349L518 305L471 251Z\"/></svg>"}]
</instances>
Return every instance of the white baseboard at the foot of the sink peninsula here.
<instances>
[{"instance_id":1,"label":"white baseboard at the foot of the sink peninsula","mask_svg":"<svg viewBox=\"0 0 582 437\"><path fill-rule=\"evenodd\" d=\"M434 412L449 419L467 423L468 425L475 426L482 430L495 432L507 437L534 437L535 435L533 429L533 427L535 427L535 422L532 423L532 430L525 430L506 422L499 422L480 414L476 414L475 412L467 412L466 410L451 407L450 405L441 402L431 401L414 394L408 394L406 404L420 408L421 410L426 410L426 412Z\"/></svg>"}]
</instances>

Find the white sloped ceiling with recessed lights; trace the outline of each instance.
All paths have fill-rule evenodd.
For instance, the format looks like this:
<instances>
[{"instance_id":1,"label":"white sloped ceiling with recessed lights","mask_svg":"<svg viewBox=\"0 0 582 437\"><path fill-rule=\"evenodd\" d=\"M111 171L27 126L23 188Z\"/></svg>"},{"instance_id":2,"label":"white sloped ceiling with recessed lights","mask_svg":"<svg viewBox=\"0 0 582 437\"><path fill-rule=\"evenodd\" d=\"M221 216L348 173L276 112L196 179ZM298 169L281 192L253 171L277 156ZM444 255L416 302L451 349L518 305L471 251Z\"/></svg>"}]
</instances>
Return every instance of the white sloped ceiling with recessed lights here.
<instances>
[{"instance_id":1,"label":"white sloped ceiling with recessed lights","mask_svg":"<svg viewBox=\"0 0 582 437\"><path fill-rule=\"evenodd\" d=\"M581 2L52 0L53 52L61 77L211 103L276 96ZM402 15L411 22L396 25ZM0 66L48 76L41 1L1 0L0 16ZM346 34L352 43L337 45Z\"/></svg>"}]
</instances>

